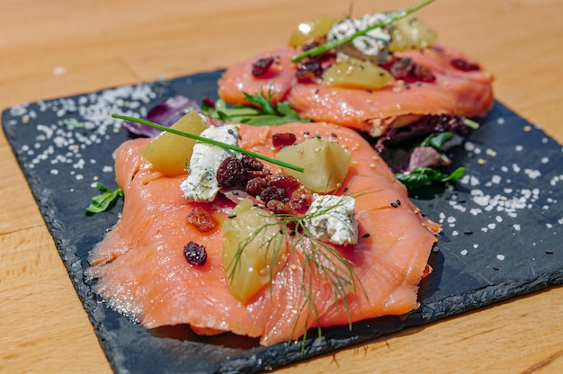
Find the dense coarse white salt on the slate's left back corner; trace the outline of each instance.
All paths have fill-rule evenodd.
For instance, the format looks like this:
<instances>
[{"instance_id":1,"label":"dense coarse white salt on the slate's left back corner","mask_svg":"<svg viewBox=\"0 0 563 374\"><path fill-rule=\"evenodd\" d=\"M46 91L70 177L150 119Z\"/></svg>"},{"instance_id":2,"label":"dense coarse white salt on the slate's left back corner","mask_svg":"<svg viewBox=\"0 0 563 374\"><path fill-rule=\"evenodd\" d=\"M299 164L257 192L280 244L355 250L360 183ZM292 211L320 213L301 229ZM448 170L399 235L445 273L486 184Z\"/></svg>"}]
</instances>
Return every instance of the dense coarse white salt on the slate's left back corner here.
<instances>
[{"instance_id":1,"label":"dense coarse white salt on the slate's left back corner","mask_svg":"<svg viewBox=\"0 0 563 374\"><path fill-rule=\"evenodd\" d=\"M64 74L64 67L57 67L57 72ZM58 119L55 123L38 123L35 142L20 146L19 152L28 156L26 166L36 168L43 163L69 164L72 169L84 170L86 160L83 151L102 144L121 131L121 123L112 119L112 113L135 117L146 115L147 103L156 97L155 85L121 86L78 97L40 101L35 103L36 106L14 105L9 110L14 118L38 118L39 111L53 113ZM90 164L94 165L95 160L90 160ZM50 169L50 174L62 176L61 170L67 169ZM112 165L103 166L103 173L112 172ZM76 181L85 179L84 174L70 174Z\"/></svg>"}]
</instances>

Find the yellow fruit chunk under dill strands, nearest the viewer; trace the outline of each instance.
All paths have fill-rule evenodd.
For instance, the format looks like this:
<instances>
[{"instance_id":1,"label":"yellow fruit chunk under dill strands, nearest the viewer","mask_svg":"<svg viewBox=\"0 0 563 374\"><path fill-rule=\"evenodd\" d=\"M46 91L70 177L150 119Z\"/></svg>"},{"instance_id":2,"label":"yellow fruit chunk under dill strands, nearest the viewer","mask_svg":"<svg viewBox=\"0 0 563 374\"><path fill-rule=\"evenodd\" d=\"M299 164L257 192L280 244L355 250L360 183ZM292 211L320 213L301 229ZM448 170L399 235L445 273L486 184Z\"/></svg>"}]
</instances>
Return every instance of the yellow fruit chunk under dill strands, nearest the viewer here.
<instances>
[{"instance_id":1,"label":"yellow fruit chunk under dill strands, nearest the viewer","mask_svg":"<svg viewBox=\"0 0 563 374\"><path fill-rule=\"evenodd\" d=\"M231 295L242 303L280 272L287 244L272 213L245 199L237 204L221 228L223 268Z\"/></svg>"}]
</instances>

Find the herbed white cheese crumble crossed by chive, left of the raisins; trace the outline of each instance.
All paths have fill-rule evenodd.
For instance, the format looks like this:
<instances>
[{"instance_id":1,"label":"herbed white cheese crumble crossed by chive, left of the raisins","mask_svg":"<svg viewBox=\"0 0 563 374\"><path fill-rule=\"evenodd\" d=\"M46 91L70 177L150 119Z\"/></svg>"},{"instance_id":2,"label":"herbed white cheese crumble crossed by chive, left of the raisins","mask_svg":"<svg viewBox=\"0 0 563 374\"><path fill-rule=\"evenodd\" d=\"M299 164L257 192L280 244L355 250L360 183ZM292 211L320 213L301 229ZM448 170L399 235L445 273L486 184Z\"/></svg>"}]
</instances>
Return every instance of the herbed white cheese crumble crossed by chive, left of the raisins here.
<instances>
[{"instance_id":1,"label":"herbed white cheese crumble crossed by chive, left of the raisins","mask_svg":"<svg viewBox=\"0 0 563 374\"><path fill-rule=\"evenodd\" d=\"M201 137L237 146L239 129L239 125L211 126L201 132ZM227 157L236 156L236 154L229 149L196 142L188 167L190 174L180 185L183 197L194 201L214 200L219 192L219 184L217 183L219 165Z\"/></svg>"}]
</instances>

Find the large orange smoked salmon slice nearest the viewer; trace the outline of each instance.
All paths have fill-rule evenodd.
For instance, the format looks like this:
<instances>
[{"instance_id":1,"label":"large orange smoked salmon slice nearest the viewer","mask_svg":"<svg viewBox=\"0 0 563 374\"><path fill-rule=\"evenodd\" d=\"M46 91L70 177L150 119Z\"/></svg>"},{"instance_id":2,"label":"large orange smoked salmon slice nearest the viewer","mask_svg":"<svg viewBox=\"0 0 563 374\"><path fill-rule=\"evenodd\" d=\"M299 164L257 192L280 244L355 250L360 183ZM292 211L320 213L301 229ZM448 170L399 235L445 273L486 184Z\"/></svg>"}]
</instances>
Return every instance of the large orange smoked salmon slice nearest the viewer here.
<instances>
[{"instance_id":1,"label":"large orange smoked salmon slice nearest the viewer","mask_svg":"<svg viewBox=\"0 0 563 374\"><path fill-rule=\"evenodd\" d=\"M353 129L317 122L262 128L243 124L239 146L273 156L274 133L295 134L297 142L331 138L352 153L349 173L336 194L346 191L356 199L358 244L326 244L348 259L357 275L344 289L344 298L335 297L323 274L307 271L304 252L292 236L287 240L293 250L271 284L246 304L234 298L223 269L220 228L235 204L222 195L210 202L184 199L180 184L185 175L167 177L140 156L147 138L129 140L115 152L125 202L121 219L89 258L85 276L96 280L95 291L147 328L189 324L200 334L260 337L263 345L298 339L310 327L402 315L416 308L418 285L428 272L428 256L441 227L421 214L405 186ZM266 167L281 172L278 166ZM202 233L188 224L195 207L206 209L219 226ZM183 247L190 241L206 248L203 266L186 261Z\"/></svg>"}]
</instances>

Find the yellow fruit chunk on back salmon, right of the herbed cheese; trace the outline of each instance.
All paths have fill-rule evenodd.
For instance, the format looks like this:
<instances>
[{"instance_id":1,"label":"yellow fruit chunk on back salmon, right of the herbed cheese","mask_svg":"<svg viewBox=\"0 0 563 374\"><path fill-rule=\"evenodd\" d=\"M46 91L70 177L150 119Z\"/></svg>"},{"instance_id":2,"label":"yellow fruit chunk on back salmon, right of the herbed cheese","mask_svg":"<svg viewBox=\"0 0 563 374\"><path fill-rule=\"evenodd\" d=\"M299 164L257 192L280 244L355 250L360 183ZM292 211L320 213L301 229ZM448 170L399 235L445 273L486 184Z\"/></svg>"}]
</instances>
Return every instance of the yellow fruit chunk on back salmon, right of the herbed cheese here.
<instances>
[{"instance_id":1,"label":"yellow fruit chunk on back salmon, right of the herbed cheese","mask_svg":"<svg viewBox=\"0 0 563 374\"><path fill-rule=\"evenodd\" d=\"M395 22L390 33L389 51L391 52L424 49L430 46L438 37L436 31L428 27L415 14L410 14Z\"/></svg>"}]
</instances>

